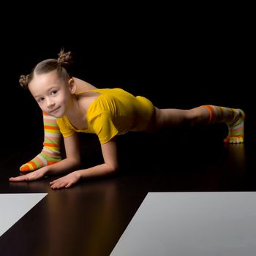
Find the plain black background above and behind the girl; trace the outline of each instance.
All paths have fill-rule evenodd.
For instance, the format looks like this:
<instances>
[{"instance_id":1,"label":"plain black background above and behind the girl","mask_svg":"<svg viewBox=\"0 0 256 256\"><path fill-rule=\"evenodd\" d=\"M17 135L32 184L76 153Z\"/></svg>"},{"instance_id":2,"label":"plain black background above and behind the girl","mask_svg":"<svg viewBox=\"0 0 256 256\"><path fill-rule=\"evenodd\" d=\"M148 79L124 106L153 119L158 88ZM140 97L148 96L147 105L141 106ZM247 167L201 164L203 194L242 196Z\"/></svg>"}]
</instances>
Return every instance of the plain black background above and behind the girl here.
<instances>
[{"instance_id":1,"label":"plain black background above and behind the girl","mask_svg":"<svg viewBox=\"0 0 256 256\"><path fill-rule=\"evenodd\" d=\"M18 78L37 62L56 58L61 48L73 53L74 76L99 88L121 87L158 108L243 108L252 124L255 50L249 7L40 3L33 12L20 8L6 10L9 18L1 20L5 154L42 138L41 110Z\"/></svg>"}]
</instances>

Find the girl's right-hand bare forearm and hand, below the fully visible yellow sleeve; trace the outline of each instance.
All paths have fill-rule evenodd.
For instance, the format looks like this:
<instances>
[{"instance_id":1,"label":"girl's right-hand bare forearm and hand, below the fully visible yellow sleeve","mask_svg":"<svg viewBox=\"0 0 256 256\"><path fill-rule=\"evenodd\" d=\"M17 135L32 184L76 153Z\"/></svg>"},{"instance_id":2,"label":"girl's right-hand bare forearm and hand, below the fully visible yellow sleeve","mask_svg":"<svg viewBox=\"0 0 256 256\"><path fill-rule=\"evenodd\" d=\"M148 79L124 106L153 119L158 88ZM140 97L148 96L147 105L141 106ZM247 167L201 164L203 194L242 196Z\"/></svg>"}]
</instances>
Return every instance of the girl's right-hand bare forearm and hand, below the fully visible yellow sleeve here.
<instances>
[{"instance_id":1,"label":"girl's right-hand bare forearm and hand, below the fully visible yellow sleeve","mask_svg":"<svg viewBox=\"0 0 256 256\"><path fill-rule=\"evenodd\" d=\"M116 141L112 139L101 146L104 158L104 163L102 165L96 165L83 170L76 170L75 172L69 173L67 176L50 182L50 187L52 189L68 188L77 183L81 178L97 178L115 173L118 169Z\"/></svg>"}]
</instances>

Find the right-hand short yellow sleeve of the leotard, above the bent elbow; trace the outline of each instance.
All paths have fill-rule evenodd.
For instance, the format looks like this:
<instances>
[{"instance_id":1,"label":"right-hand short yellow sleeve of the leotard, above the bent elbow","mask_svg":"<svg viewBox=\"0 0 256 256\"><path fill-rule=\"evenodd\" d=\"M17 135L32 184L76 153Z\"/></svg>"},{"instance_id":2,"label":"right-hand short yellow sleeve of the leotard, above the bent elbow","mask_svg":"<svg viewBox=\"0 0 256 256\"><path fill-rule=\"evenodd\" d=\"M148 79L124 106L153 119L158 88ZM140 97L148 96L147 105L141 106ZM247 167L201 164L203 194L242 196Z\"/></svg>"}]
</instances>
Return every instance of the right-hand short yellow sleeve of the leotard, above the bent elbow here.
<instances>
[{"instance_id":1,"label":"right-hand short yellow sleeve of the leotard, above the bent elbow","mask_svg":"<svg viewBox=\"0 0 256 256\"><path fill-rule=\"evenodd\" d=\"M118 134L115 124L108 113L100 113L91 120L91 128L99 138L101 144L107 143Z\"/></svg>"}]
</instances>

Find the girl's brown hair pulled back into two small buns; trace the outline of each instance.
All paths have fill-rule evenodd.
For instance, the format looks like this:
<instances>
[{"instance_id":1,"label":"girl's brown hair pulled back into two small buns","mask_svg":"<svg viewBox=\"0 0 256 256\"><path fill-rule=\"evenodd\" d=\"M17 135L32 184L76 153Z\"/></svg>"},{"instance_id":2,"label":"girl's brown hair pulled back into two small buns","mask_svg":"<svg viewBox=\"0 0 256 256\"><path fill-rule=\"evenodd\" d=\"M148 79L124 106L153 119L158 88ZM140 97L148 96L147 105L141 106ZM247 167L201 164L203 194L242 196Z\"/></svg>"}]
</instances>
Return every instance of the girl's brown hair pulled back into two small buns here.
<instances>
[{"instance_id":1,"label":"girl's brown hair pulled back into two small buns","mask_svg":"<svg viewBox=\"0 0 256 256\"><path fill-rule=\"evenodd\" d=\"M29 75L20 75L19 83L23 89L28 89L29 83L33 80L34 75L42 75L53 70L58 72L59 78L69 80L72 78L69 70L72 64L72 53L70 51L65 52L62 48L58 54L58 59L45 59L39 62L29 73Z\"/></svg>"}]
</instances>

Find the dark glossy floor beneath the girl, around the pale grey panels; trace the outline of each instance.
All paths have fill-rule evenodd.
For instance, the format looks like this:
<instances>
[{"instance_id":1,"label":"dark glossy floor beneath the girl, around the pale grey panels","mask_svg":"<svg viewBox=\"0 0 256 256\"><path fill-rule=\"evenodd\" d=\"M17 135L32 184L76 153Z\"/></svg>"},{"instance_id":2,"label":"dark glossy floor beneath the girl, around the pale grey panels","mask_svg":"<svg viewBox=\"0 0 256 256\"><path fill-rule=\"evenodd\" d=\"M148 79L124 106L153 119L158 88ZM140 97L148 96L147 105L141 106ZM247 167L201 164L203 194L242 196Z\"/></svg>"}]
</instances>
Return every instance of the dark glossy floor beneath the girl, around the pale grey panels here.
<instances>
[{"instance_id":1,"label":"dark glossy floor beneath the girl, around the pale grey panels","mask_svg":"<svg viewBox=\"0 0 256 256\"><path fill-rule=\"evenodd\" d=\"M220 126L120 136L117 176L58 191L48 185L53 177L8 181L40 141L2 158L1 193L48 195L0 237L0 255L110 255L148 192L255 191L254 144L225 146L224 136ZM80 139L83 165L100 162L94 137Z\"/></svg>"}]
</instances>

